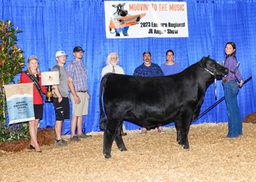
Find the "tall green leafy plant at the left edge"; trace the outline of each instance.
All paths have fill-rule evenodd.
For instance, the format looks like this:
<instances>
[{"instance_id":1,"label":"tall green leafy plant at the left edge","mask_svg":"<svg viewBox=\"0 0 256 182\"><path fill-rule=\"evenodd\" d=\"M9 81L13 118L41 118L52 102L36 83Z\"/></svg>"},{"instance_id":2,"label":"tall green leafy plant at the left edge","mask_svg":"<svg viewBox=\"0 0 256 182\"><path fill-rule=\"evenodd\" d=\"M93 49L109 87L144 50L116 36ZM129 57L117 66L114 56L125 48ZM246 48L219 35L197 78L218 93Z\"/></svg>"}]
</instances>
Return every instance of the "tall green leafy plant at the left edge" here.
<instances>
[{"instance_id":1,"label":"tall green leafy plant at the left edge","mask_svg":"<svg viewBox=\"0 0 256 182\"><path fill-rule=\"evenodd\" d=\"M15 33L21 33L12 28L10 20L5 23L0 22L0 141L16 141L20 138L29 139L28 124L12 124L7 126L8 114L6 97L4 95L4 84L14 83L14 78L22 72L25 66L23 51L18 48L17 36Z\"/></svg>"}]
</instances>

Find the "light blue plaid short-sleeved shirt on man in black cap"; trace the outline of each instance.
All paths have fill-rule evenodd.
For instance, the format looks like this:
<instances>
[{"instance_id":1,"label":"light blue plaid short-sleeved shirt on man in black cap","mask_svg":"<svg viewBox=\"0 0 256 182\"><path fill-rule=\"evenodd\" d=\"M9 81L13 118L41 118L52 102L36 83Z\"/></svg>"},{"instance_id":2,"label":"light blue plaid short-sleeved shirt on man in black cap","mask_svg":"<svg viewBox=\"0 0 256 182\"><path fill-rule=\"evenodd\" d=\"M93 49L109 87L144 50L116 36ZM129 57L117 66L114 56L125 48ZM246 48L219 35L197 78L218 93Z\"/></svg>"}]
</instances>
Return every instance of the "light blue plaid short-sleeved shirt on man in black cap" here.
<instances>
[{"instance_id":1,"label":"light blue plaid short-sleeved shirt on man in black cap","mask_svg":"<svg viewBox=\"0 0 256 182\"><path fill-rule=\"evenodd\" d=\"M84 66L82 61L74 59L71 63L67 65L67 78L72 79L76 92L80 90L89 90L88 84L86 82L86 66Z\"/></svg>"}]
</instances>

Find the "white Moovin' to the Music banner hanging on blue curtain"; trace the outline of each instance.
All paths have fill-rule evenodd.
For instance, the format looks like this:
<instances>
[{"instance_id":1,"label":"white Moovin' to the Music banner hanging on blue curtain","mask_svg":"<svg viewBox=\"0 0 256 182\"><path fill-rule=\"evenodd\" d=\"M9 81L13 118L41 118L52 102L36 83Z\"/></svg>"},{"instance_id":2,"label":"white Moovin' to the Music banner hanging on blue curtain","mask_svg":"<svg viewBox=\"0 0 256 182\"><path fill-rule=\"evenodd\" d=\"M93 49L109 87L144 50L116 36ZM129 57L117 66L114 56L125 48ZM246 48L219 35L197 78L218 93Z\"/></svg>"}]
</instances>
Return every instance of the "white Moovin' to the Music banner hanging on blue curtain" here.
<instances>
[{"instance_id":1,"label":"white Moovin' to the Music banner hanging on blue curtain","mask_svg":"<svg viewBox=\"0 0 256 182\"><path fill-rule=\"evenodd\" d=\"M104 2L107 39L189 36L187 2Z\"/></svg>"}]
</instances>

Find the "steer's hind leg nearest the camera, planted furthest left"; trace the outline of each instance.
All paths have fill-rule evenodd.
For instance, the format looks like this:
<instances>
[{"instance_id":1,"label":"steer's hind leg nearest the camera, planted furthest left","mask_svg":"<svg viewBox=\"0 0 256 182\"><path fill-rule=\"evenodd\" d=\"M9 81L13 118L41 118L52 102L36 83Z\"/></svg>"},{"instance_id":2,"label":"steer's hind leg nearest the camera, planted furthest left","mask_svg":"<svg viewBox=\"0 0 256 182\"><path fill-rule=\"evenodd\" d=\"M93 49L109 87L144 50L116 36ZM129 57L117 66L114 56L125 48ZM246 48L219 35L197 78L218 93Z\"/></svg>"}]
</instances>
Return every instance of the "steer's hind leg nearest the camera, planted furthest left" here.
<instances>
[{"instance_id":1,"label":"steer's hind leg nearest the camera, planted furthest left","mask_svg":"<svg viewBox=\"0 0 256 182\"><path fill-rule=\"evenodd\" d=\"M104 136L103 136L103 154L106 159L111 157L111 148L113 144L113 140L116 135L118 125L116 125L113 120L108 120L105 124Z\"/></svg>"}]
</instances>

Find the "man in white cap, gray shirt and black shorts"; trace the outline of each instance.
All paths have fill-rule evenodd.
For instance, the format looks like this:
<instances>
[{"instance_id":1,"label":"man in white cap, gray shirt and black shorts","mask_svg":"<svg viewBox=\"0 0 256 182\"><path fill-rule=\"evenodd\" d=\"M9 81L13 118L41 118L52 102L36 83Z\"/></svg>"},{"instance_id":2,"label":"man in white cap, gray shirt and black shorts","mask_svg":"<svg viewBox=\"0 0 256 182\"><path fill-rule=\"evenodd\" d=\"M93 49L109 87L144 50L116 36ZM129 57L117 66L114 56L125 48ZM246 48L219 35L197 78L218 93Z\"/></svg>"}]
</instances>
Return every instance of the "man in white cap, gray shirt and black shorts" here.
<instances>
[{"instance_id":1,"label":"man in white cap, gray shirt and black shorts","mask_svg":"<svg viewBox=\"0 0 256 182\"><path fill-rule=\"evenodd\" d=\"M62 125L64 119L69 119L69 90L67 84L67 72L64 68L67 55L64 51L56 52L56 60L58 64L53 67L52 71L59 71L59 85L53 85L53 106L56 113L56 122L54 130L56 132L56 138L54 143L56 146L67 146L68 141L64 141L61 138Z\"/></svg>"}]
</instances>

